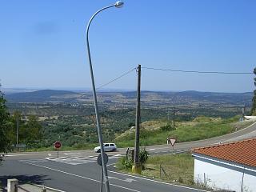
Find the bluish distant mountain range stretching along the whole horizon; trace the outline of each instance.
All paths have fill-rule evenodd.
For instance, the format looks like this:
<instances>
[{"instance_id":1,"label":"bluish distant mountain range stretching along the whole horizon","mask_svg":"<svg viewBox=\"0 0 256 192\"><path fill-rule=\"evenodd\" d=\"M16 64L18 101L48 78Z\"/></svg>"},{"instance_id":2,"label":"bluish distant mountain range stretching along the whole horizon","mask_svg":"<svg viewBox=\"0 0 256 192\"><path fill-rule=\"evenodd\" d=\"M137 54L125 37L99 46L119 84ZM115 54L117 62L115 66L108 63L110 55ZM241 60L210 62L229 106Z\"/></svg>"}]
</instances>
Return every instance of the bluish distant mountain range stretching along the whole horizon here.
<instances>
[{"instance_id":1,"label":"bluish distant mountain range stretching along the whole horizon","mask_svg":"<svg viewBox=\"0 0 256 192\"><path fill-rule=\"evenodd\" d=\"M6 94L8 102L92 102L91 92L74 92L68 90L36 90L15 94ZM182 92L142 91L142 102L151 103L226 103L232 105L251 105L252 92L215 93L187 90ZM99 102L130 103L136 101L136 91L98 92Z\"/></svg>"}]
</instances>

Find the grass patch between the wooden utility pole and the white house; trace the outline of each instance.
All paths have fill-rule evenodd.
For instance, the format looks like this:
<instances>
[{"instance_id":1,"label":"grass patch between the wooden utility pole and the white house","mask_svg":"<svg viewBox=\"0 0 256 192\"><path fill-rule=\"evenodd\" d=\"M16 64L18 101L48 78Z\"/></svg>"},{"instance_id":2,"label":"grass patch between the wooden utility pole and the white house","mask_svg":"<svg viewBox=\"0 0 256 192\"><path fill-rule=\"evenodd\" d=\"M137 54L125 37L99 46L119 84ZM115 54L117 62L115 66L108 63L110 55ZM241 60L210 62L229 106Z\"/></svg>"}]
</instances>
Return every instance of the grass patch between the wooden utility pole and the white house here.
<instances>
[{"instance_id":1,"label":"grass patch between the wooden utility pole and the white house","mask_svg":"<svg viewBox=\"0 0 256 192\"><path fill-rule=\"evenodd\" d=\"M130 172L122 162L120 158L116 168L122 172ZM194 158L190 153L150 156L146 162L146 170L142 170L142 176L191 186L194 184Z\"/></svg>"}]
</instances>

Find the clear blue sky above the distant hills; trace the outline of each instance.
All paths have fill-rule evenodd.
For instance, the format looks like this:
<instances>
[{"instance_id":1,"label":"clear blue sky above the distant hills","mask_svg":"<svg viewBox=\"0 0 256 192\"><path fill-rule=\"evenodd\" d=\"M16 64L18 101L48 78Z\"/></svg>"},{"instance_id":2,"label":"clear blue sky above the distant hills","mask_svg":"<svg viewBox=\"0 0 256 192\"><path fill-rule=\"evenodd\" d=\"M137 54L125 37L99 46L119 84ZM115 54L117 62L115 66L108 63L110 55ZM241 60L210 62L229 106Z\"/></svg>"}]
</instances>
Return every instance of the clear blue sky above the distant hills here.
<instances>
[{"instance_id":1,"label":"clear blue sky above the distant hills","mask_svg":"<svg viewBox=\"0 0 256 192\"><path fill-rule=\"evenodd\" d=\"M126 0L90 27L96 86L133 67L252 72L256 1ZM2 87L90 88L85 32L110 0L0 0ZM254 90L253 74L142 69L142 90ZM136 72L105 88L135 90Z\"/></svg>"}]
</instances>

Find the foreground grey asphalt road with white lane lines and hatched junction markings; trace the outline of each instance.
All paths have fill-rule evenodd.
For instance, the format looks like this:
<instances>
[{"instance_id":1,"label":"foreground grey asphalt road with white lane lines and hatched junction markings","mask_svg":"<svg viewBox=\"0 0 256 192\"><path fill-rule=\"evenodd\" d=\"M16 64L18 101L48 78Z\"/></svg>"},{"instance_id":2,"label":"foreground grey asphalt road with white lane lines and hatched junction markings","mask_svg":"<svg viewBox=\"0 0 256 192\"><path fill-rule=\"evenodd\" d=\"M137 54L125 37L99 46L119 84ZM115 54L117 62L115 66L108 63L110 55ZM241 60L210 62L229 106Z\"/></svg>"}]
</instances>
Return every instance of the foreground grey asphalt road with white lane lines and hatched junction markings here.
<instances>
[{"instance_id":1,"label":"foreground grey asphalt road with white lane lines and hatched junction markings","mask_svg":"<svg viewBox=\"0 0 256 192\"><path fill-rule=\"evenodd\" d=\"M111 167L119 156L113 154L109 156L108 174L111 191L203 191L120 174ZM66 153L65 158L17 159L17 157L22 156L6 158L0 167L0 178L18 178L23 182L30 181L39 185L43 184L66 192L95 192L100 189L101 167L98 166L96 157L84 157L82 153Z\"/></svg>"}]
</instances>

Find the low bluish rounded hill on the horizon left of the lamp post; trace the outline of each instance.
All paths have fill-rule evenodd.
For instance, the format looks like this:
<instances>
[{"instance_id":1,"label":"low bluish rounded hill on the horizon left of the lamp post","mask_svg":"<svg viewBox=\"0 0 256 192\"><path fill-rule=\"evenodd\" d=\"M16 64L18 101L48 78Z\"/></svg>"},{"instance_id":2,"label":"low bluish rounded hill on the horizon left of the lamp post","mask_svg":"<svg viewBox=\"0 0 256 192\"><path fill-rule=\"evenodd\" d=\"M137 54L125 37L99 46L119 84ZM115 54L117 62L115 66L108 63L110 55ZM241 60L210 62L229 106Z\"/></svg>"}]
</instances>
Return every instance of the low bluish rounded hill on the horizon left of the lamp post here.
<instances>
[{"instance_id":1,"label":"low bluish rounded hill on the horizon left of the lamp post","mask_svg":"<svg viewBox=\"0 0 256 192\"><path fill-rule=\"evenodd\" d=\"M7 94L6 99L8 102L67 102L77 95L78 93L66 90L37 90Z\"/></svg>"}]
</instances>

